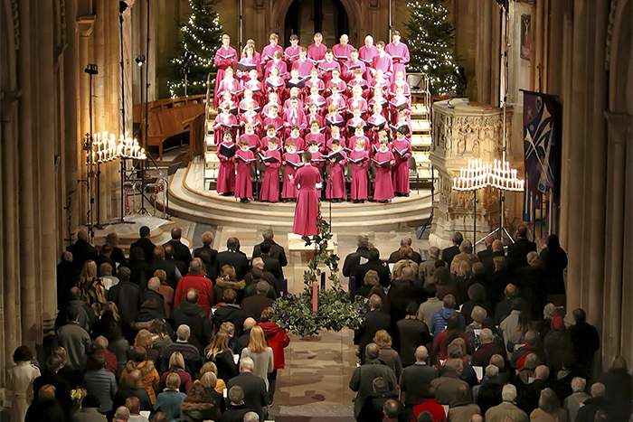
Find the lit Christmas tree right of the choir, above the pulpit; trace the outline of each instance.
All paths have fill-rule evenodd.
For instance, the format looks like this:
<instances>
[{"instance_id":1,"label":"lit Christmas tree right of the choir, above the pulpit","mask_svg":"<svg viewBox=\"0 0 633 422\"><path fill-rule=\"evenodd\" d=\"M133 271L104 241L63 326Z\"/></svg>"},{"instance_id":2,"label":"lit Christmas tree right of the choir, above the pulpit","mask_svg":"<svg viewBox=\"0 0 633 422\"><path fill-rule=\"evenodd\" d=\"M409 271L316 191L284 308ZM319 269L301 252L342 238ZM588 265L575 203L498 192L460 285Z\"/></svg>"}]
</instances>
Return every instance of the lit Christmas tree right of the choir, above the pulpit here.
<instances>
[{"instance_id":1,"label":"lit Christmas tree right of the choir, above the pulpit","mask_svg":"<svg viewBox=\"0 0 633 422\"><path fill-rule=\"evenodd\" d=\"M411 52L409 70L429 75L431 87L440 94L458 89L458 65L453 58L455 34L443 0L407 3L407 44Z\"/></svg>"}]
</instances>

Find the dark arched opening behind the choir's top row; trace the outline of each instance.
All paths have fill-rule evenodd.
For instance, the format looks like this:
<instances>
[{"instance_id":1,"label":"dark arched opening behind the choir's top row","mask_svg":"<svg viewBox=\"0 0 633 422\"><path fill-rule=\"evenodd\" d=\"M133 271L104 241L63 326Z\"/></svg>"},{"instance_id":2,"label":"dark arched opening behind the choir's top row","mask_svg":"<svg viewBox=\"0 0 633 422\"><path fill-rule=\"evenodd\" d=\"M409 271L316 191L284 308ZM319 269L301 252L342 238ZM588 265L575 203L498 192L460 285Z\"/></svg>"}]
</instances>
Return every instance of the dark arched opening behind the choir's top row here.
<instances>
[{"instance_id":1,"label":"dark arched opening behind the choir's top row","mask_svg":"<svg viewBox=\"0 0 633 422\"><path fill-rule=\"evenodd\" d=\"M349 18L341 0L295 0L288 7L284 25L283 40L289 45L290 35L299 36L299 44L307 47L313 43L315 33L323 33L323 42L332 47L338 43L341 34L349 33Z\"/></svg>"}]
</instances>

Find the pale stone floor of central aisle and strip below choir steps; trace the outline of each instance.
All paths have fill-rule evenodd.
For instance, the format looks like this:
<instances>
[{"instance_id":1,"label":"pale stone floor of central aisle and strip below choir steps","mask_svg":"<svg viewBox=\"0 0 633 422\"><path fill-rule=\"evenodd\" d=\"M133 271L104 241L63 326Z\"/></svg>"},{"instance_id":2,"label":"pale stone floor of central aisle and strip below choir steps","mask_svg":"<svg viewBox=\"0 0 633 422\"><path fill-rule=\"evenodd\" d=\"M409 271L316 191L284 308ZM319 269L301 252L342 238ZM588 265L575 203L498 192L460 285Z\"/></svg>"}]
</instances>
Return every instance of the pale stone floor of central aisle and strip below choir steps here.
<instances>
[{"instance_id":1,"label":"pale stone floor of central aisle and strip below choir steps","mask_svg":"<svg viewBox=\"0 0 633 422\"><path fill-rule=\"evenodd\" d=\"M226 240L231 236L240 239L241 250L250 256L252 247L261 241L261 232L267 228L253 229L211 227L198 223L176 220L176 224L183 228L184 235L191 239L194 247L200 244L200 235L205 230L213 230L215 240L213 248L225 249ZM356 249L358 231L335 230L335 253L341 258L341 267L345 256ZM404 236L413 239L413 249L428 249L426 240L416 239L415 231L392 230L388 232L366 232L369 240L381 251L386 258L393 250L400 247L400 240ZM288 252L288 234L276 233L275 240L288 253L288 267L284 268L288 278L288 291L298 293L303 288L303 272L307 269L306 252ZM347 286L347 279L339 273L339 279ZM328 280L329 283L329 280ZM352 372L356 367L356 349L353 344L354 333L343 330L340 333L325 332L311 338L300 338L290 335L290 344L286 349L286 368L279 370L277 393L270 410L272 416L296 416L296 420L303 417L350 417L353 415L353 399L355 393L348 387ZM325 405L325 406L324 406ZM289 420L289 419L285 419ZM345 419L341 419L345 420ZM350 420L353 420L350 419Z\"/></svg>"}]
</instances>

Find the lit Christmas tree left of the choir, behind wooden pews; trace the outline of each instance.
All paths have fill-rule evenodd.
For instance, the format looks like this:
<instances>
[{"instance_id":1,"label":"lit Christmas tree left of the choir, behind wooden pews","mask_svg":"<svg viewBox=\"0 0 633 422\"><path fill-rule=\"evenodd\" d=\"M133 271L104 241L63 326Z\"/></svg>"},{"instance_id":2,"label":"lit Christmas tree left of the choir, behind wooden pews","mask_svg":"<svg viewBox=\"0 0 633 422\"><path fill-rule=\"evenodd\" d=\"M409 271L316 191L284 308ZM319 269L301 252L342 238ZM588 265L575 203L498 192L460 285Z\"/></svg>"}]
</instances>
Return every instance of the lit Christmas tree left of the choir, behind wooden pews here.
<instances>
[{"instance_id":1,"label":"lit Christmas tree left of the choir, behind wooden pews","mask_svg":"<svg viewBox=\"0 0 633 422\"><path fill-rule=\"evenodd\" d=\"M217 2L189 0L192 14L180 27L178 56L170 61L174 66L174 75L167 81L167 86L172 98L184 95L187 62L187 95L206 93L207 75L213 70L213 56L222 46L222 23L220 16L213 11L213 5Z\"/></svg>"}]
</instances>

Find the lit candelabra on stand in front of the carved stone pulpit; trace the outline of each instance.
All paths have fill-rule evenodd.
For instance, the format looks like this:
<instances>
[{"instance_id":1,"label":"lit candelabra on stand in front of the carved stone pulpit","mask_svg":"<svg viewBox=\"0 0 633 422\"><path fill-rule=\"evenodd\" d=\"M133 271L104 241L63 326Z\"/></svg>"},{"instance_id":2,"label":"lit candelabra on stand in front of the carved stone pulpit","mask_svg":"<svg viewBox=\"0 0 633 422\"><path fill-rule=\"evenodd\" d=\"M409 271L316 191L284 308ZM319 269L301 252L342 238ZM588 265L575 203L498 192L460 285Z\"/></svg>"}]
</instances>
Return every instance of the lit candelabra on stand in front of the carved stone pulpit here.
<instances>
[{"instance_id":1,"label":"lit candelabra on stand in front of the carved stone pulpit","mask_svg":"<svg viewBox=\"0 0 633 422\"><path fill-rule=\"evenodd\" d=\"M524 192L525 181L517 179L516 173L506 161L495 159L490 164L479 158L468 160L468 168L460 168L459 177L453 178L453 191L473 192L473 245L477 242L477 191L490 186L500 192Z\"/></svg>"}]
</instances>

